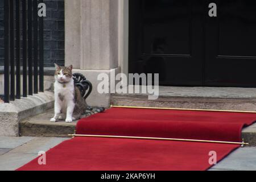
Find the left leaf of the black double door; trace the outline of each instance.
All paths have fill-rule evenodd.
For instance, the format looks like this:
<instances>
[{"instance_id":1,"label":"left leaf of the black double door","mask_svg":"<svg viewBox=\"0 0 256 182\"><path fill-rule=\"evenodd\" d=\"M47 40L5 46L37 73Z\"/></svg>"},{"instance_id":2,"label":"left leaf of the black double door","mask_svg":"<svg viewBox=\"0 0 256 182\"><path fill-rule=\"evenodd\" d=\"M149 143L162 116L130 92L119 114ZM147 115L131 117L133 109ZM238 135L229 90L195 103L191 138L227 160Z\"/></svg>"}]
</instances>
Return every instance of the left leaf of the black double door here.
<instances>
[{"instance_id":1,"label":"left leaf of the black double door","mask_svg":"<svg viewBox=\"0 0 256 182\"><path fill-rule=\"evenodd\" d=\"M129 73L159 73L160 85L202 85L200 1L130 0Z\"/></svg>"}]
</instances>

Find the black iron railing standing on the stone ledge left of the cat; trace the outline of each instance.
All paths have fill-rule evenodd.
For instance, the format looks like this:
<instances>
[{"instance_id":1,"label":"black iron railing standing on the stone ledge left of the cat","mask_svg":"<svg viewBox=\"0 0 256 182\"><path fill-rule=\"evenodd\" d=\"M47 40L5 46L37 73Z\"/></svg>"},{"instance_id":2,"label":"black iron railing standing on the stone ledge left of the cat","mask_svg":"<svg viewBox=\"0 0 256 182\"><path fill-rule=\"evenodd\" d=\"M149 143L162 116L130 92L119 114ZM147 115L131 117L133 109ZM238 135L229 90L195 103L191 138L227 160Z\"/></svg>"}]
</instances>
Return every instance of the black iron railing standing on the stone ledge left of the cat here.
<instances>
[{"instance_id":1,"label":"black iron railing standing on the stone ledge left of the cat","mask_svg":"<svg viewBox=\"0 0 256 182\"><path fill-rule=\"evenodd\" d=\"M43 16L38 16L38 4L42 2L43 0L5 0L4 99L7 103L21 98L21 68L23 97L44 91Z\"/></svg>"}]
</instances>

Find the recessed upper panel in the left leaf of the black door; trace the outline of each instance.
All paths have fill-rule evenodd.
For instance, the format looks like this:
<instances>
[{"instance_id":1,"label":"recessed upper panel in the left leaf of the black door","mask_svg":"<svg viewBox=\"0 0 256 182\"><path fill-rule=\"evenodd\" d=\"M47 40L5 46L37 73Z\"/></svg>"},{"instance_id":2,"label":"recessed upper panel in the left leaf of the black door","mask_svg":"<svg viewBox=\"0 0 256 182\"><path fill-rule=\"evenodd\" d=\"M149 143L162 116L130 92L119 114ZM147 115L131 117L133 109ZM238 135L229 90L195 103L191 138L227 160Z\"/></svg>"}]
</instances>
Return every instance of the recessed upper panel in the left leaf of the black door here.
<instances>
[{"instance_id":1,"label":"recessed upper panel in the left leaf of the black door","mask_svg":"<svg viewBox=\"0 0 256 182\"><path fill-rule=\"evenodd\" d=\"M143 3L143 53L190 56L189 4L183 7L184 2L146 0Z\"/></svg>"}]
</instances>

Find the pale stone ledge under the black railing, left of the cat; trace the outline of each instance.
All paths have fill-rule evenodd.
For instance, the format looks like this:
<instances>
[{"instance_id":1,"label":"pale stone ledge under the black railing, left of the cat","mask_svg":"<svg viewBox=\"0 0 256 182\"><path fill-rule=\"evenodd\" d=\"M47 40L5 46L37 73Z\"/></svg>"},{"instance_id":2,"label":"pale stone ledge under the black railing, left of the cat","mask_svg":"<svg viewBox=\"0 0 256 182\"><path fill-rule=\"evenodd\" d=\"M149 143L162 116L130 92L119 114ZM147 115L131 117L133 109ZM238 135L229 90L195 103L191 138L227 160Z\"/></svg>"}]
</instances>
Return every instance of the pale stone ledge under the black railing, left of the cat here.
<instances>
[{"instance_id":1,"label":"pale stone ledge under the black railing, left of the cat","mask_svg":"<svg viewBox=\"0 0 256 182\"><path fill-rule=\"evenodd\" d=\"M43 113L54 106L54 94L44 92L28 96L10 104L0 104L0 135L18 136L19 121Z\"/></svg>"}]
</instances>

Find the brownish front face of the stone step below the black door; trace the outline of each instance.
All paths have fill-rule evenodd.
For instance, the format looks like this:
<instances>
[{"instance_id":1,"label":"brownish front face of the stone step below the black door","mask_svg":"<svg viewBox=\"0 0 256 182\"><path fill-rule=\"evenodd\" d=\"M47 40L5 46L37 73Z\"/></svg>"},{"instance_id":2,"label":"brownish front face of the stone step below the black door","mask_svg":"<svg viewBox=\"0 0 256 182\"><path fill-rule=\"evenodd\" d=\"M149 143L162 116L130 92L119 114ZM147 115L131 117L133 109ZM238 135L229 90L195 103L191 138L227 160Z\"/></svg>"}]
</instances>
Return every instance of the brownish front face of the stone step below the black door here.
<instances>
[{"instance_id":1,"label":"brownish front face of the stone step below the black door","mask_svg":"<svg viewBox=\"0 0 256 182\"><path fill-rule=\"evenodd\" d=\"M159 96L158 100L148 100L147 95L112 94L111 103L119 106L256 111L256 98Z\"/></svg>"}]
</instances>

